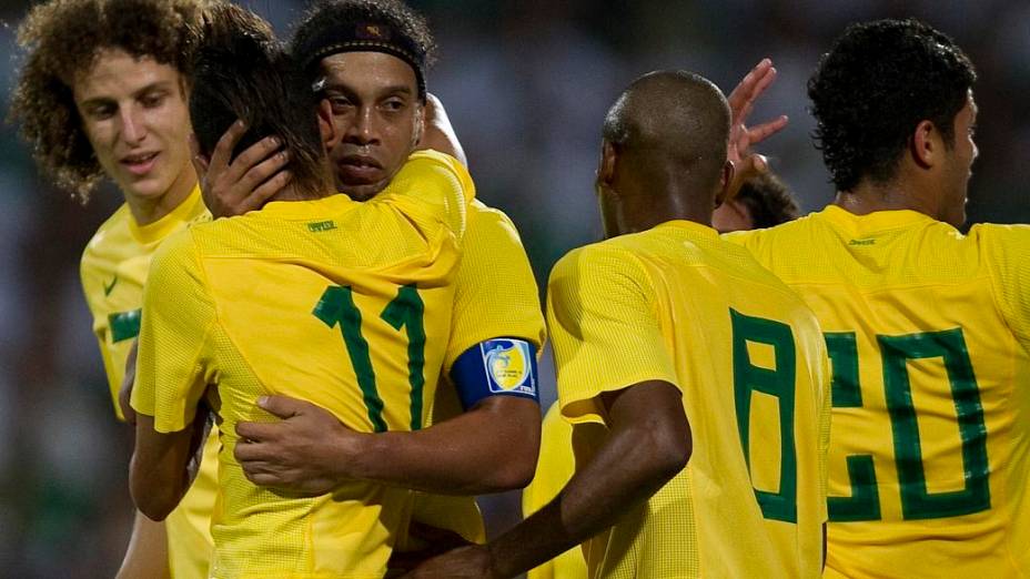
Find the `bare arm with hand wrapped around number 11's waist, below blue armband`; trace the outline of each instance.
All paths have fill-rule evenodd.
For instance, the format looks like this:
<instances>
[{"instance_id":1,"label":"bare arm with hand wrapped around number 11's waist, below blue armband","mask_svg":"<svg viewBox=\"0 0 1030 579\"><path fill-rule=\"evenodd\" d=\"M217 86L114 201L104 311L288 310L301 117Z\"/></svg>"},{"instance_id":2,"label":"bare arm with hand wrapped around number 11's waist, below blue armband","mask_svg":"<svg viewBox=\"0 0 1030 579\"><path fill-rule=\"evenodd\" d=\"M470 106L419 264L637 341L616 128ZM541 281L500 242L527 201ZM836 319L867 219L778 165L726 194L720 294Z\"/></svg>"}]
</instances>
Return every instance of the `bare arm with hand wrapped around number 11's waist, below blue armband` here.
<instances>
[{"instance_id":1,"label":"bare arm with hand wrapped around number 11's waist, below blue armband","mask_svg":"<svg viewBox=\"0 0 1030 579\"><path fill-rule=\"evenodd\" d=\"M532 399L491 396L428 428L382 434L351 430L303 400L272 396L259 406L282 421L236 425L244 441L234 456L255 485L322 494L360 479L481 495L526 486L536 466L541 419Z\"/></svg>"}]
</instances>

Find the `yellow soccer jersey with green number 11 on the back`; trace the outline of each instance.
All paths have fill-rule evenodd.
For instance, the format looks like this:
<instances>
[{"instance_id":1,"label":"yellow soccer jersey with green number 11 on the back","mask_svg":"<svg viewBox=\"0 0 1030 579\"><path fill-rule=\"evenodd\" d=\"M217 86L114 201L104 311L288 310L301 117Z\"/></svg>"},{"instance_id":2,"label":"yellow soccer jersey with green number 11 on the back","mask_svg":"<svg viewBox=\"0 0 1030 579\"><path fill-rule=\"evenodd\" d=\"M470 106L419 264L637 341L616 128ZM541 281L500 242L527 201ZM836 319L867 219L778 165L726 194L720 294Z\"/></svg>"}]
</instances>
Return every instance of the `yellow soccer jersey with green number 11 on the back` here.
<instances>
[{"instance_id":1,"label":"yellow soccer jersey with green number 11 on the back","mask_svg":"<svg viewBox=\"0 0 1030 579\"><path fill-rule=\"evenodd\" d=\"M319 497L256 487L233 457L255 403L310 400L359 431L413 430L443 365L471 180L411 156L373 201L273 202L196 225L154 257L133 407L162 433L218 415L219 578L382 577L411 492L355 481ZM384 457L388 459L388 457Z\"/></svg>"}]
</instances>

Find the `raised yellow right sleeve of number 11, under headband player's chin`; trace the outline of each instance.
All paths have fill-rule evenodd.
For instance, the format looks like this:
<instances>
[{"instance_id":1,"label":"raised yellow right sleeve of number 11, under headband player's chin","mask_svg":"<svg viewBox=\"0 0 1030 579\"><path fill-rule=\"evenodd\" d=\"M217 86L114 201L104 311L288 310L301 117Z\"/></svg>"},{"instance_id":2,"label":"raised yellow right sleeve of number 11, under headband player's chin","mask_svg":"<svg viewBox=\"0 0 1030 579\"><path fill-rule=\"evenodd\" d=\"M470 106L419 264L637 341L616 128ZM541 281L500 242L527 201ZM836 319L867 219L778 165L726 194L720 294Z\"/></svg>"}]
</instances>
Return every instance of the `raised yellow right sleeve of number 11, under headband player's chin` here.
<instances>
[{"instance_id":1,"label":"raised yellow right sleeve of number 11, under headband player's chin","mask_svg":"<svg viewBox=\"0 0 1030 579\"><path fill-rule=\"evenodd\" d=\"M416 151L382 193L366 203L390 203L408 215L442 221L458 238L476 190L465 166L436 151Z\"/></svg>"}]
</instances>

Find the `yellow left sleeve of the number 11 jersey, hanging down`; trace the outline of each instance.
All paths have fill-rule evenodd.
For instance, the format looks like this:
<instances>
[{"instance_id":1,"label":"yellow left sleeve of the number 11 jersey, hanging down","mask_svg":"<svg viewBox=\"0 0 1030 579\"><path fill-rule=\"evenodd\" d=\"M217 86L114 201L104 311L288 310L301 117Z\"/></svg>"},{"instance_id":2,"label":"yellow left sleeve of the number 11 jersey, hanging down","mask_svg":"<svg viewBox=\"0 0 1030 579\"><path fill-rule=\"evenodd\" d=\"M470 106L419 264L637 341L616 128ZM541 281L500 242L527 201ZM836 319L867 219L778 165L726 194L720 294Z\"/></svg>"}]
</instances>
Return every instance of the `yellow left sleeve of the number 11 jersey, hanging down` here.
<instances>
[{"instance_id":1,"label":"yellow left sleeve of the number 11 jersey, hanging down","mask_svg":"<svg viewBox=\"0 0 1030 579\"><path fill-rule=\"evenodd\" d=\"M175 433L193 421L196 405L213 382L214 323L214 303L188 230L154 254L143 290L131 404L135 412L154 417L159 433Z\"/></svg>"}]
</instances>

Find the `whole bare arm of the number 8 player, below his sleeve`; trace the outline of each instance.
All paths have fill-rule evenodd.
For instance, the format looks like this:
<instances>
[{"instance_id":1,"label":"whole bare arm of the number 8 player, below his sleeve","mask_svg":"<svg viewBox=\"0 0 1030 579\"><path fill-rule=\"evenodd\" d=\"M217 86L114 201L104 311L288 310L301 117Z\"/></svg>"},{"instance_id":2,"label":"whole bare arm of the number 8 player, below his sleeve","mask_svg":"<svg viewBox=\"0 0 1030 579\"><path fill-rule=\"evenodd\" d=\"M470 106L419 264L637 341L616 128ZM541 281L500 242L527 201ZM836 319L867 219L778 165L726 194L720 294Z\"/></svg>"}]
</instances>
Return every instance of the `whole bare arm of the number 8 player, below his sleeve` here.
<instances>
[{"instance_id":1,"label":"whole bare arm of the number 8 player, below his sleeve","mask_svg":"<svg viewBox=\"0 0 1030 579\"><path fill-rule=\"evenodd\" d=\"M693 441L676 386L643 382L602 399L609 434L554 501L489 545L456 549L406 577L514 577L612 526L683 470Z\"/></svg>"}]
</instances>

